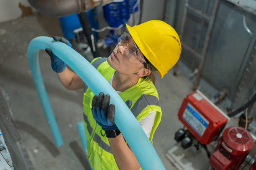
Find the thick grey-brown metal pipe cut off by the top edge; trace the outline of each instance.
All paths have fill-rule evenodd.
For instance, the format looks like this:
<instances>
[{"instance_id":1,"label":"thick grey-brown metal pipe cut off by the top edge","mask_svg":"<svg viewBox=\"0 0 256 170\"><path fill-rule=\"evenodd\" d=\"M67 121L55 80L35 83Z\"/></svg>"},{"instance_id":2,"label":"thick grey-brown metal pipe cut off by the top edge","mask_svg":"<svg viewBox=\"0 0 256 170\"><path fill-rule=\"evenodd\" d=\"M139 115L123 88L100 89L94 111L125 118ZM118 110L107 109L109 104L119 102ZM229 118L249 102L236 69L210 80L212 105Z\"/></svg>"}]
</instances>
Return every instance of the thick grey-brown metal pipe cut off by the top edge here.
<instances>
[{"instance_id":1,"label":"thick grey-brown metal pipe cut off by the top edge","mask_svg":"<svg viewBox=\"0 0 256 170\"><path fill-rule=\"evenodd\" d=\"M106 5L114 0L28 0L38 12L51 17L64 17Z\"/></svg>"}]
</instances>

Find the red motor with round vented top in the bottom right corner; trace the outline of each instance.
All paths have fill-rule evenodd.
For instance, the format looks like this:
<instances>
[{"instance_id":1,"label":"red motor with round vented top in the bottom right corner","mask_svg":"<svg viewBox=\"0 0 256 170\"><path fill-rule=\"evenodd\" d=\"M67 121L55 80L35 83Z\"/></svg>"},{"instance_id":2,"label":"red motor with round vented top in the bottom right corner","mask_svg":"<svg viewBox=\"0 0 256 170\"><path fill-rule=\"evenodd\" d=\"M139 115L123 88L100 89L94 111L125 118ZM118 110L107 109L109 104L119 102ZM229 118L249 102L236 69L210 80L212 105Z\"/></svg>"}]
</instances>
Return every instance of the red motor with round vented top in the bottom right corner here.
<instances>
[{"instance_id":1,"label":"red motor with round vented top in the bottom right corner","mask_svg":"<svg viewBox=\"0 0 256 170\"><path fill-rule=\"evenodd\" d=\"M224 130L210 164L217 170L238 170L253 147L251 134L240 127Z\"/></svg>"}]
</instances>

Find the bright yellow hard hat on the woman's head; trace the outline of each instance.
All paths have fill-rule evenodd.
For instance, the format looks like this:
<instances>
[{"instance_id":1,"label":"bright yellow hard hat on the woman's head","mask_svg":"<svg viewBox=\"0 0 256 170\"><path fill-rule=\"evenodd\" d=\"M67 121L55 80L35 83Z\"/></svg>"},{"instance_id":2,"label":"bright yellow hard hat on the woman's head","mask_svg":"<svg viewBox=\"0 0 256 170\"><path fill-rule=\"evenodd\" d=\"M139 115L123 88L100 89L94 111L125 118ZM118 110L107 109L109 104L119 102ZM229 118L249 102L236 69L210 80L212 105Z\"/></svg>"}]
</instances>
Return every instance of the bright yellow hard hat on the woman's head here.
<instances>
[{"instance_id":1,"label":"bright yellow hard hat on the woman's head","mask_svg":"<svg viewBox=\"0 0 256 170\"><path fill-rule=\"evenodd\" d=\"M179 60L181 44L179 35L164 21L151 20L130 27L128 31L143 55L156 67L161 78Z\"/></svg>"}]
</instances>

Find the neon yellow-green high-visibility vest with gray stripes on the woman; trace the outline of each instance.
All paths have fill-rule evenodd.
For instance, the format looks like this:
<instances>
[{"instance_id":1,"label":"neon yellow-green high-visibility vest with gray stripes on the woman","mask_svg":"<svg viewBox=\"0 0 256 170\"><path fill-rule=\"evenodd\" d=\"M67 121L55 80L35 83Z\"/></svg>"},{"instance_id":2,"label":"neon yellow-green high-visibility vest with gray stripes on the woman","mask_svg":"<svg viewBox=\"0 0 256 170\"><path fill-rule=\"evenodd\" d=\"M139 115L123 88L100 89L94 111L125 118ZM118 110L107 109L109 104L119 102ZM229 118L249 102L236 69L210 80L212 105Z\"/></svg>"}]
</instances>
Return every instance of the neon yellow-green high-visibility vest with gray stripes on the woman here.
<instances>
[{"instance_id":1,"label":"neon yellow-green high-visibility vest with gray stripes on the woman","mask_svg":"<svg viewBox=\"0 0 256 170\"><path fill-rule=\"evenodd\" d=\"M95 58L92 65L105 77L110 80L115 70L108 64L107 58ZM140 121L152 110L156 111L154 125L149 140L152 142L154 132L161 120L161 107L156 87L150 80L140 78L136 85L119 94L123 101L131 100L131 112ZM93 92L84 84L84 128L87 140L87 158L94 170L118 170L114 156L110 149L105 131L96 123L92 117ZM136 139L134 139L136 140Z\"/></svg>"}]
</instances>

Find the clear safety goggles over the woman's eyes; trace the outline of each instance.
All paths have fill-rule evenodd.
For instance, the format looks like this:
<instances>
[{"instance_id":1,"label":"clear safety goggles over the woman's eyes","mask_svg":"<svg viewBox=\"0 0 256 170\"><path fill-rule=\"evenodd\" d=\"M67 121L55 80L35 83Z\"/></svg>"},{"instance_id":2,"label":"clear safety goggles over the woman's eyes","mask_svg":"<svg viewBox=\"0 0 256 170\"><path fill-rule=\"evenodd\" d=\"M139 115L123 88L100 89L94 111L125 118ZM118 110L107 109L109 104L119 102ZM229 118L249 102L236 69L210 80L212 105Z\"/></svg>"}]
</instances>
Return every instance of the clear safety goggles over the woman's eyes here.
<instances>
[{"instance_id":1,"label":"clear safety goggles over the woman's eyes","mask_svg":"<svg viewBox=\"0 0 256 170\"><path fill-rule=\"evenodd\" d=\"M131 63L135 65L138 65L139 63L143 63L144 65L146 64L145 60L143 60L141 51L138 49L131 35L127 32L123 32L123 35L118 38L118 46L125 46L124 56Z\"/></svg>"}]
</instances>

